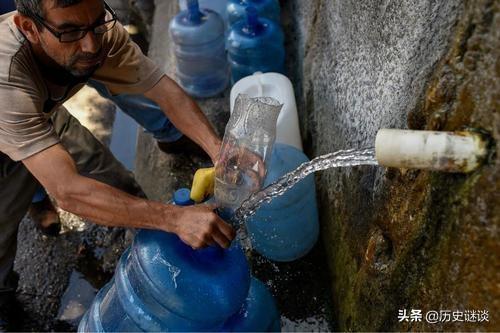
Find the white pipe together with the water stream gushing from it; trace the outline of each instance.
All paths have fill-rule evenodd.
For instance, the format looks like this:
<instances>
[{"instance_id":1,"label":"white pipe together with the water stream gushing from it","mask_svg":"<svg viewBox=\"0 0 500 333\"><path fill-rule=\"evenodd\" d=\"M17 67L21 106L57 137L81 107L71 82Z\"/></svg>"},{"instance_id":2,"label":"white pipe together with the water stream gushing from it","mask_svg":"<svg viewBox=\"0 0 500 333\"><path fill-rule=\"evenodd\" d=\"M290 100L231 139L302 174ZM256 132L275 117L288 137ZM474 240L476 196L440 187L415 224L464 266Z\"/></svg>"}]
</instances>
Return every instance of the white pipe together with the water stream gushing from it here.
<instances>
[{"instance_id":1,"label":"white pipe together with the water stream gushing from it","mask_svg":"<svg viewBox=\"0 0 500 333\"><path fill-rule=\"evenodd\" d=\"M261 204L282 195L307 175L336 167L381 165L396 168L471 172L486 159L488 140L475 132L434 132L381 129L375 149L340 150L316 157L285 174L243 201L233 215L235 225L244 223Z\"/></svg>"}]
</instances>

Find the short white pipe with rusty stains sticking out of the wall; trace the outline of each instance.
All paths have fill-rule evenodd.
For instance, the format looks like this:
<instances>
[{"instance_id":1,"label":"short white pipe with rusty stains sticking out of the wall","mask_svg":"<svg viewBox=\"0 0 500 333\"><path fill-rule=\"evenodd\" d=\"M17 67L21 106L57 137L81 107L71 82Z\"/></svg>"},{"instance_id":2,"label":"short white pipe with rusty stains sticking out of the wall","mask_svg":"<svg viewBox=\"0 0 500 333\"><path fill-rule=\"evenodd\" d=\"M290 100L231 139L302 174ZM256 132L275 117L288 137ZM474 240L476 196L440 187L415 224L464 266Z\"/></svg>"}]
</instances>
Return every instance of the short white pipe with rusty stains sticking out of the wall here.
<instances>
[{"instance_id":1,"label":"short white pipe with rusty stains sticking out of the wall","mask_svg":"<svg viewBox=\"0 0 500 333\"><path fill-rule=\"evenodd\" d=\"M486 154L486 142L473 132L381 129L375 139L376 159L387 167L470 172Z\"/></svg>"}]
</instances>

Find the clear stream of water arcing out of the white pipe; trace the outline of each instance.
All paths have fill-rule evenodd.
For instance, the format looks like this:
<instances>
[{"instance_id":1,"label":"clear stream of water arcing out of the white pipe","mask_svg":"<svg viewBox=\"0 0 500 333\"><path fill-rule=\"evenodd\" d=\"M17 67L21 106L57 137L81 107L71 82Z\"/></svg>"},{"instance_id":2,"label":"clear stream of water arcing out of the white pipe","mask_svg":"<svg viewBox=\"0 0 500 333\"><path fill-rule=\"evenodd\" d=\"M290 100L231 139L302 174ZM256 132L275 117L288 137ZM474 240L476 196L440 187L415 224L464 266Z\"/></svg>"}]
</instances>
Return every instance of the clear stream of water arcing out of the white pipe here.
<instances>
[{"instance_id":1,"label":"clear stream of water arcing out of the white pipe","mask_svg":"<svg viewBox=\"0 0 500 333\"><path fill-rule=\"evenodd\" d=\"M375 148L339 150L316 157L309 162L301 164L295 170L285 174L266 188L252 194L235 211L232 220L235 222L235 225L242 224L255 214L263 203L270 202L273 198L282 195L301 179L304 179L313 172L358 165L378 165L375 159Z\"/></svg>"}]
</instances>

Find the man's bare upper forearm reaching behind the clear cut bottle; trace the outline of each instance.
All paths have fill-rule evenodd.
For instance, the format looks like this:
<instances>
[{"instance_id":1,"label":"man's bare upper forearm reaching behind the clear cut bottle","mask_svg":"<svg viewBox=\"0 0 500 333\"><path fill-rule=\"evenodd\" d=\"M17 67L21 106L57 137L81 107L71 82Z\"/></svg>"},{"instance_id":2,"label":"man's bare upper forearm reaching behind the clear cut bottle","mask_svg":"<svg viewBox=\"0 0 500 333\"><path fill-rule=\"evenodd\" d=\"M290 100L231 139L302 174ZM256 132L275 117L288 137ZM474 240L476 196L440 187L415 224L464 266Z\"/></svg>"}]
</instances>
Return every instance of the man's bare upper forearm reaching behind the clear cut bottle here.
<instances>
[{"instance_id":1,"label":"man's bare upper forearm reaching behind the clear cut bottle","mask_svg":"<svg viewBox=\"0 0 500 333\"><path fill-rule=\"evenodd\" d=\"M155 101L175 127L203 148L215 164L221 140L196 102L177 83L165 75L144 95Z\"/></svg>"}]
</instances>

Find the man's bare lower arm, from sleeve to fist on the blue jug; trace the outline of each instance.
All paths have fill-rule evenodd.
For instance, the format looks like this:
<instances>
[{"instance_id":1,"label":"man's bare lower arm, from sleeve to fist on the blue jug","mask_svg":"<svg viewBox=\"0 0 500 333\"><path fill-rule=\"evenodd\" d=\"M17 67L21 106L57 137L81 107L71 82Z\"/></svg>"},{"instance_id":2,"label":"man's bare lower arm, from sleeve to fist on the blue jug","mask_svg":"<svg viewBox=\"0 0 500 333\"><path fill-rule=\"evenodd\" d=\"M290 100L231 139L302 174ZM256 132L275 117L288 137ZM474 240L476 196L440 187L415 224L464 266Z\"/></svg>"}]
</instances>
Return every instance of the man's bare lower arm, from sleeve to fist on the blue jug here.
<instances>
[{"instance_id":1,"label":"man's bare lower arm, from sleeve to fist on the blue jug","mask_svg":"<svg viewBox=\"0 0 500 333\"><path fill-rule=\"evenodd\" d=\"M79 175L71 156L60 144L23 163L62 209L96 223L173 232L193 248L215 243L227 247L234 238L231 226L213 212L212 206L165 205Z\"/></svg>"}]
</instances>

